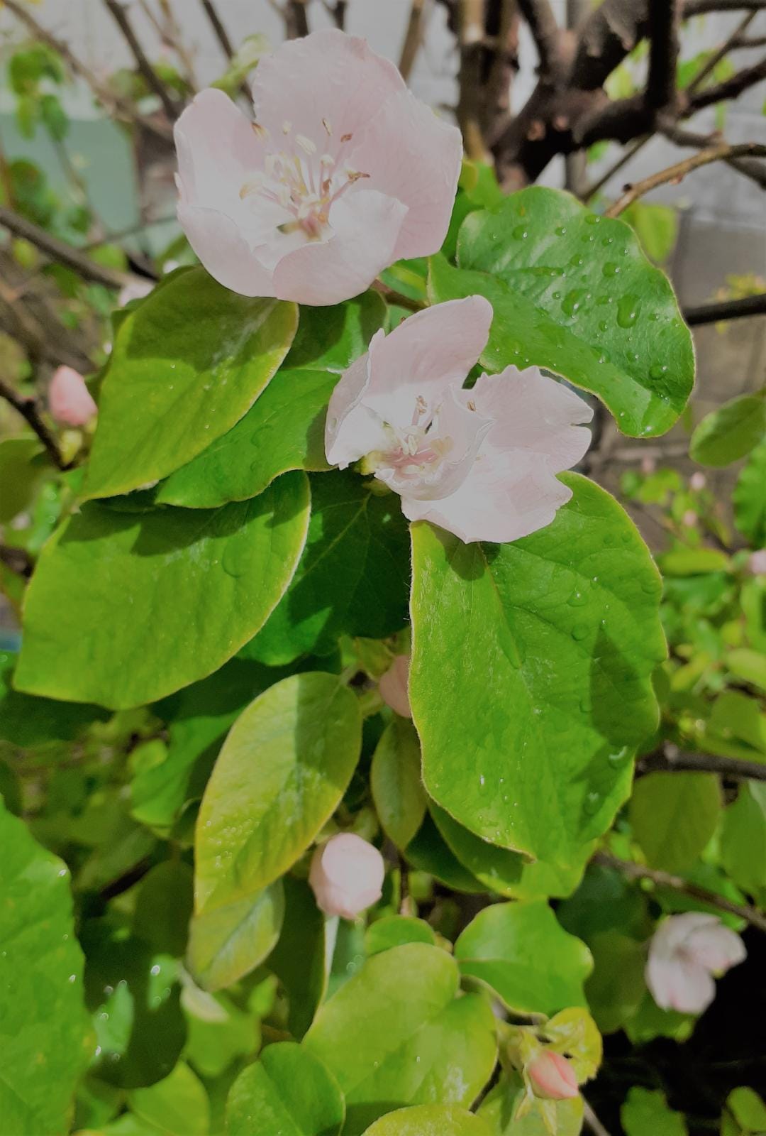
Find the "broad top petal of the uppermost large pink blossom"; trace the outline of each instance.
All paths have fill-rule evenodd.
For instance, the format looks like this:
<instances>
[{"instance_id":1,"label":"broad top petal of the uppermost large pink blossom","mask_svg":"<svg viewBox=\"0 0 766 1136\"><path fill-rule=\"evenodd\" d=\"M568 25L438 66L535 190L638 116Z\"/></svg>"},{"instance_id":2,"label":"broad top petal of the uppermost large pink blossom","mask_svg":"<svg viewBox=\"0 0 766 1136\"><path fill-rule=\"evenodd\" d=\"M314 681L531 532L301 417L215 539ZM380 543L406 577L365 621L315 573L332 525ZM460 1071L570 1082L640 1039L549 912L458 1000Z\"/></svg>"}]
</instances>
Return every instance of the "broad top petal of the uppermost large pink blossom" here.
<instances>
[{"instance_id":1,"label":"broad top petal of the uppermost large pink blossom","mask_svg":"<svg viewBox=\"0 0 766 1136\"><path fill-rule=\"evenodd\" d=\"M354 135L404 80L365 40L336 28L283 43L260 60L253 81L256 118L273 137L303 134L335 154L345 134ZM329 125L328 136L322 119Z\"/></svg>"}]
</instances>

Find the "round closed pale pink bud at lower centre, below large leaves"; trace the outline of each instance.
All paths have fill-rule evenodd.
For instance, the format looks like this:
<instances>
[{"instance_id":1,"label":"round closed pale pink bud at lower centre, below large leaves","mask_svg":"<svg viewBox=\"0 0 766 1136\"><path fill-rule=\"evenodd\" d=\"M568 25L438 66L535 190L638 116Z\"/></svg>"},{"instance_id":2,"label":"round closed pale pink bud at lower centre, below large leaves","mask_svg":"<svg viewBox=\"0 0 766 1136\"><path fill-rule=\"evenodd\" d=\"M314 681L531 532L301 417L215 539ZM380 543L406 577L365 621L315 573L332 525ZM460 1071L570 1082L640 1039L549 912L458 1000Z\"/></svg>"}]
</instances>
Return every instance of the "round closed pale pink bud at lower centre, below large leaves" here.
<instances>
[{"instance_id":1,"label":"round closed pale pink bud at lower centre, below large leaves","mask_svg":"<svg viewBox=\"0 0 766 1136\"><path fill-rule=\"evenodd\" d=\"M340 833L314 852L309 883L326 914L355 919L380 899L384 876L380 852L361 836Z\"/></svg>"}]
</instances>

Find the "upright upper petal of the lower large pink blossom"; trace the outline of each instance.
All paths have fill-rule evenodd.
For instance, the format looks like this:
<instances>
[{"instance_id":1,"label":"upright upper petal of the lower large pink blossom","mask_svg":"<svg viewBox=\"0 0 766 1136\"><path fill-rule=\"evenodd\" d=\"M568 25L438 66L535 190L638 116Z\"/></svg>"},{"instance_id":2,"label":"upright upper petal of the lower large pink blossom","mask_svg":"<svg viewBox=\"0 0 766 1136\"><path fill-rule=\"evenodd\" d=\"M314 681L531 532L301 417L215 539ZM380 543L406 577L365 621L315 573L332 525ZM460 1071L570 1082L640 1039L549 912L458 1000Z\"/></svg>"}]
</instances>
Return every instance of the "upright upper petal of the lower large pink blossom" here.
<instances>
[{"instance_id":1,"label":"upright upper petal of the lower large pink blossom","mask_svg":"<svg viewBox=\"0 0 766 1136\"><path fill-rule=\"evenodd\" d=\"M447 390L461 387L483 351L493 307L481 295L447 300L410 316L376 345L365 406L384 421L412 423L418 396L432 411Z\"/></svg>"}]
</instances>

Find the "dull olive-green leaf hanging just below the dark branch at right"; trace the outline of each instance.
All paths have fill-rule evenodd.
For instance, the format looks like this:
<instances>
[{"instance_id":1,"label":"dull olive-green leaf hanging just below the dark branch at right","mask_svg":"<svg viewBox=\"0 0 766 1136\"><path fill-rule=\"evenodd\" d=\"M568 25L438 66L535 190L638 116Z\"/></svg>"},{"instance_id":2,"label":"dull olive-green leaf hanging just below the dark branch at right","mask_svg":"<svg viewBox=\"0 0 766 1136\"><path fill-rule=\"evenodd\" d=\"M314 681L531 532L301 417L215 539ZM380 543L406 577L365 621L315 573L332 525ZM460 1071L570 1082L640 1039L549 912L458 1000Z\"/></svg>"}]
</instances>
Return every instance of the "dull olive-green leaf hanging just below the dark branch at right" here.
<instances>
[{"instance_id":1,"label":"dull olive-green leaf hanging just below the dark branch at right","mask_svg":"<svg viewBox=\"0 0 766 1136\"><path fill-rule=\"evenodd\" d=\"M691 868L721 816L721 786L714 774L649 774L635 783L630 820L651 868Z\"/></svg>"}]
</instances>

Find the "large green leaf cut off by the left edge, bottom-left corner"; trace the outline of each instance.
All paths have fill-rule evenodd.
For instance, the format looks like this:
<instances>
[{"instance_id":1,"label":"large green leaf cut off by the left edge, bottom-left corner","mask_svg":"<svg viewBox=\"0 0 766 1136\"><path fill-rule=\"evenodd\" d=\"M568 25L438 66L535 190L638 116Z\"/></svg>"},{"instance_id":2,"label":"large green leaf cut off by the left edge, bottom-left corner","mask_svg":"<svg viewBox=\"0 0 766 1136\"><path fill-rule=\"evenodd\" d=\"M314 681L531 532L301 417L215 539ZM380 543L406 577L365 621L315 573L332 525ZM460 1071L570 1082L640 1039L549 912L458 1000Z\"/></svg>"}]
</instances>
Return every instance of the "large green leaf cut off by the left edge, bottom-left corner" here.
<instances>
[{"instance_id":1,"label":"large green leaf cut off by the left edge, bottom-left corner","mask_svg":"<svg viewBox=\"0 0 766 1136\"><path fill-rule=\"evenodd\" d=\"M68 872L1 801L0 845L2 1131L59 1136L93 1052Z\"/></svg>"}]
</instances>

